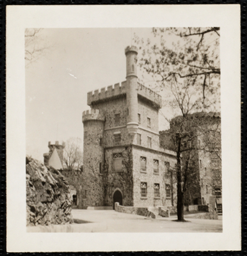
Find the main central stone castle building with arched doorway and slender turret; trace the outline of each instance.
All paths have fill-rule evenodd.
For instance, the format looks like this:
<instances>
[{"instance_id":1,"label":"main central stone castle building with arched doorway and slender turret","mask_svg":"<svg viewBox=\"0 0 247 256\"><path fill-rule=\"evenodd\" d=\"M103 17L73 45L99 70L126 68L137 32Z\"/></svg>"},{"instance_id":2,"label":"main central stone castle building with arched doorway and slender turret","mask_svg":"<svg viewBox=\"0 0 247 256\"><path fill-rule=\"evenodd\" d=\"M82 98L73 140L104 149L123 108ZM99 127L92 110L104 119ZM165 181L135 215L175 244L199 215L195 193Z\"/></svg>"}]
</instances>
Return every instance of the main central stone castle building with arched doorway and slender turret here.
<instances>
[{"instance_id":1,"label":"main central stone castle building with arched doorway and slender turret","mask_svg":"<svg viewBox=\"0 0 247 256\"><path fill-rule=\"evenodd\" d=\"M138 49L125 49L126 81L88 92L83 112L83 195L88 206L173 205L168 169L175 152L160 147L161 96L138 83Z\"/></svg>"}]
</instances>

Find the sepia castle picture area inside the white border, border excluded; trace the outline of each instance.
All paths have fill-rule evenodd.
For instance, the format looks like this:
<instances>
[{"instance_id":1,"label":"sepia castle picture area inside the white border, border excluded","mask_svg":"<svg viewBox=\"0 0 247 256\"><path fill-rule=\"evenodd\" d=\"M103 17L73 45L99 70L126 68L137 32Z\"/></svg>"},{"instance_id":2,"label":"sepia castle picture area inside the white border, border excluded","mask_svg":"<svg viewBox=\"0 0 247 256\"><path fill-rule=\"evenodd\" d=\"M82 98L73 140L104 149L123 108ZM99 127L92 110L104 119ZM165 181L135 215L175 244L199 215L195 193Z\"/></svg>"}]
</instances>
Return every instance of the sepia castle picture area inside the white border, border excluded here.
<instances>
[{"instance_id":1,"label":"sepia castle picture area inside the white border, border excluded","mask_svg":"<svg viewBox=\"0 0 247 256\"><path fill-rule=\"evenodd\" d=\"M219 39L25 30L29 232L222 232Z\"/></svg>"}]
</instances>

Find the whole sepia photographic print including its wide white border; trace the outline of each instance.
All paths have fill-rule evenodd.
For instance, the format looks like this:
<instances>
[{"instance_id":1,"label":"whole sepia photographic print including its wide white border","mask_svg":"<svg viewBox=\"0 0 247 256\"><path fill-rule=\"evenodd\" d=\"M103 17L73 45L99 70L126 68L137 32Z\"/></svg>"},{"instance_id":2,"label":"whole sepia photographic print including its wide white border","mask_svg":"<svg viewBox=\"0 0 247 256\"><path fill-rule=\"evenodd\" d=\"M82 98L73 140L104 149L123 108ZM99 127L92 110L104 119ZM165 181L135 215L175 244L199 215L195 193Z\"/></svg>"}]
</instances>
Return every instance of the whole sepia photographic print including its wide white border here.
<instances>
[{"instance_id":1,"label":"whole sepia photographic print including its wide white border","mask_svg":"<svg viewBox=\"0 0 247 256\"><path fill-rule=\"evenodd\" d=\"M8 252L238 250L238 6L11 7Z\"/></svg>"}]
</instances>

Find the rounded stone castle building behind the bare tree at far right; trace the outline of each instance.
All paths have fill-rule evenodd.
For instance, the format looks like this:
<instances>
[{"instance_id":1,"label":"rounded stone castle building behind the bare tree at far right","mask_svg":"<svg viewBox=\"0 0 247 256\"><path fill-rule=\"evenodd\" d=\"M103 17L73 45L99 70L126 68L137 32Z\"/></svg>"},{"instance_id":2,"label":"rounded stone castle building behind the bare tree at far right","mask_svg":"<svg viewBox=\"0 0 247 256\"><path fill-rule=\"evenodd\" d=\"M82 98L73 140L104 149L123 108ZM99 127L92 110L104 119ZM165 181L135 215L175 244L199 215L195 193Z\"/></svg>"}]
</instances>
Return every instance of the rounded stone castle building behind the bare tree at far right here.
<instances>
[{"instance_id":1,"label":"rounded stone castle building behind the bare tree at far right","mask_svg":"<svg viewBox=\"0 0 247 256\"><path fill-rule=\"evenodd\" d=\"M161 145L174 150L174 142L171 131L181 125L180 116L170 122L170 130L160 132ZM184 203L187 205L207 205L211 196L216 196L218 211L221 211L221 117L219 113L193 113L189 118L194 118L198 127L182 141L182 164L185 165L186 152L191 152L190 163L193 166L193 174L189 175L189 186L186 191Z\"/></svg>"}]
</instances>

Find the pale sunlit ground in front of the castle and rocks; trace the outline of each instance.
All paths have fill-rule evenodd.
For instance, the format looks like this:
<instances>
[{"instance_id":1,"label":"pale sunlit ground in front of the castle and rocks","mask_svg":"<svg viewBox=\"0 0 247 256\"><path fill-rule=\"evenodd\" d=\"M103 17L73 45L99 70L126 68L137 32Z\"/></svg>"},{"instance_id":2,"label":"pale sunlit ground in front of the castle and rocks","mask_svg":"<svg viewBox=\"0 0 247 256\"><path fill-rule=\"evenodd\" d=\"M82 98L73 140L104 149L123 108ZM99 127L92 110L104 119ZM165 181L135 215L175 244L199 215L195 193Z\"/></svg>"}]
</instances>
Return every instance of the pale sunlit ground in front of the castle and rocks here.
<instances>
[{"instance_id":1,"label":"pale sunlit ground in front of the castle and rocks","mask_svg":"<svg viewBox=\"0 0 247 256\"><path fill-rule=\"evenodd\" d=\"M77 223L28 227L28 232L222 232L222 216L219 220L186 218L177 222L176 216L150 219L144 216L115 212L113 210L72 210Z\"/></svg>"}]
</instances>

